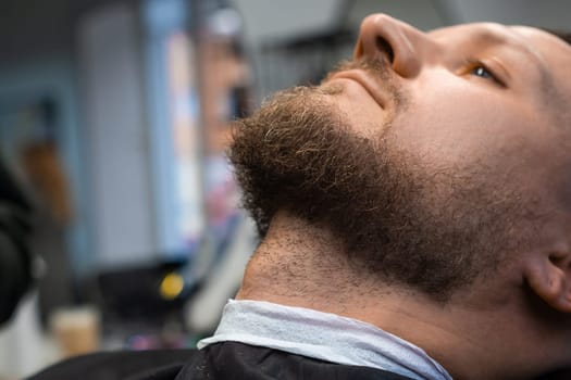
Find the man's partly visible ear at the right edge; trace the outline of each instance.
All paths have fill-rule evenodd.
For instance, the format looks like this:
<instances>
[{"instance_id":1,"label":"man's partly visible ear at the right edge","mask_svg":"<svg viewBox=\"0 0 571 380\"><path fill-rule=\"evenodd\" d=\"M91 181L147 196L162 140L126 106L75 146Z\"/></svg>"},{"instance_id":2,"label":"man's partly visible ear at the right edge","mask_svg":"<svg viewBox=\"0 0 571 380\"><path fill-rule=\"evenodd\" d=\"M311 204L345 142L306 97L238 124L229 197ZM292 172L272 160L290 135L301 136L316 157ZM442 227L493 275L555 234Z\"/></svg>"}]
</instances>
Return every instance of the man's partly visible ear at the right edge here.
<instances>
[{"instance_id":1,"label":"man's partly visible ear at the right edge","mask_svg":"<svg viewBox=\"0 0 571 380\"><path fill-rule=\"evenodd\" d=\"M530 288L549 306L571 314L571 252L530 257L524 277Z\"/></svg>"}]
</instances>

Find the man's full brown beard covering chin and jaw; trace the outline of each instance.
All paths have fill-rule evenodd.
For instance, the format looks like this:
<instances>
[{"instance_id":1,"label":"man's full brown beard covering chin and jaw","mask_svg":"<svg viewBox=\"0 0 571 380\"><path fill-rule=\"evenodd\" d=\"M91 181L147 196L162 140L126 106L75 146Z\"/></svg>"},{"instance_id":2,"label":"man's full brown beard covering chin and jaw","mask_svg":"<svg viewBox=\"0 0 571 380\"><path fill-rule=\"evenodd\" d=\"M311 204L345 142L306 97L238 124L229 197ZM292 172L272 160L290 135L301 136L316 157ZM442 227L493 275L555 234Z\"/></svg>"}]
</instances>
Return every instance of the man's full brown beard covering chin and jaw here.
<instances>
[{"instance_id":1,"label":"man's full brown beard covering chin and jaw","mask_svg":"<svg viewBox=\"0 0 571 380\"><path fill-rule=\"evenodd\" d=\"M492 273L516 249L519 194L489 191L485 165L430 167L397 148L392 121L360 136L332 105L340 91L286 90L236 123L228 156L260 235L286 211L339 237L358 273L439 302Z\"/></svg>"}]
</instances>

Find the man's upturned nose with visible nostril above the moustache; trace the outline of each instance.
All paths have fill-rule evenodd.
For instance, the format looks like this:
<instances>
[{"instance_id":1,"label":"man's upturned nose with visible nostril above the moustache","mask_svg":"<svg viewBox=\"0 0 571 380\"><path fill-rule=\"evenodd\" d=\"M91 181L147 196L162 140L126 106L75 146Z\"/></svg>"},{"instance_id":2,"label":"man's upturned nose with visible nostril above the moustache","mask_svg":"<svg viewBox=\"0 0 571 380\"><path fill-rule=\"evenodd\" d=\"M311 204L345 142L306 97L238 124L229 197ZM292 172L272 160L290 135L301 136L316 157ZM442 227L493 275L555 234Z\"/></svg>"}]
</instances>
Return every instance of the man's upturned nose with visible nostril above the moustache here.
<instances>
[{"instance_id":1,"label":"man's upturned nose with visible nostril above the moustache","mask_svg":"<svg viewBox=\"0 0 571 380\"><path fill-rule=\"evenodd\" d=\"M398 75L412 78L420 73L430 45L434 43L421 30L386 14L372 14L361 24L353 58L388 59Z\"/></svg>"}]
</instances>

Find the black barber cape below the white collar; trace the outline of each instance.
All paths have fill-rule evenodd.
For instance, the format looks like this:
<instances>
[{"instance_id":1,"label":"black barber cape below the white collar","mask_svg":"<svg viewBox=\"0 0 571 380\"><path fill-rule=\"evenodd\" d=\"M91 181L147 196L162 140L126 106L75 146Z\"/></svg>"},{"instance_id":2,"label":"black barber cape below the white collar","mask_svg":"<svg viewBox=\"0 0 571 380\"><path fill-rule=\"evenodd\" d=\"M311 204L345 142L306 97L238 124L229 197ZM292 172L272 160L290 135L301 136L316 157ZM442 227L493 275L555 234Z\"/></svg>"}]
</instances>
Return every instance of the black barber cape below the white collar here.
<instances>
[{"instance_id":1,"label":"black barber cape below the white collar","mask_svg":"<svg viewBox=\"0 0 571 380\"><path fill-rule=\"evenodd\" d=\"M110 352L57 364L28 380L407 380L380 369L332 364L236 342L203 350Z\"/></svg>"}]
</instances>

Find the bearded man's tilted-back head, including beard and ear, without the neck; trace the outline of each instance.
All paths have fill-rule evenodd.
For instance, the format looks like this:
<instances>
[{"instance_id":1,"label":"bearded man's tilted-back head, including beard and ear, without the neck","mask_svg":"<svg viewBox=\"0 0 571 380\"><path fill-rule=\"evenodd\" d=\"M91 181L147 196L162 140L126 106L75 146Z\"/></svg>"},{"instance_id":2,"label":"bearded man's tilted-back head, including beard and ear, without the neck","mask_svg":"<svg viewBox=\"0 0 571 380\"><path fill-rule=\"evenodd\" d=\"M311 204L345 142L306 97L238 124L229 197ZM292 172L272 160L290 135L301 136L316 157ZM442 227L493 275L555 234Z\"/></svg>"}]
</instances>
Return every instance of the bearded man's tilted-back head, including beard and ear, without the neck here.
<instances>
[{"instance_id":1,"label":"bearded man's tilted-back head, including beard and ear, without the neck","mask_svg":"<svg viewBox=\"0 0 571 380\"><path fill-rule=\"evenodd\" d=\"M340 237L355 268L437 301L509 262L571 312L569 67L542 30L370 16L353 62L237 126L246 206L262 235L285 210Z\"/></svg>"}]
</instances>

